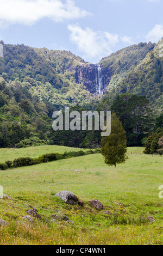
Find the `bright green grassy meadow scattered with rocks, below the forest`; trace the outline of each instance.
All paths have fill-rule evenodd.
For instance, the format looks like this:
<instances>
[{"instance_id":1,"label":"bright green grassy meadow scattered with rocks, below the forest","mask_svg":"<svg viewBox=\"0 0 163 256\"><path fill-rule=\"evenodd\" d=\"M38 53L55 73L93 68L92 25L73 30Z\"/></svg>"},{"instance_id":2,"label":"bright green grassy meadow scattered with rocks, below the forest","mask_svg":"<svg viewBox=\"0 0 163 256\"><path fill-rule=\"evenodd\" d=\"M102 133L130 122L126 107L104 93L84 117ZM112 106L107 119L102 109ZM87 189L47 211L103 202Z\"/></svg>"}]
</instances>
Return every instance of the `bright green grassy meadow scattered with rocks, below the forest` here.
<instances>
[{"instance_id":1,"label":"bright green grassy meadow scattered with rocks, below the forest","mask_svg":"<svg viewBox=\"0 0 163 256\"><path fill-rule=\"evenodd\" d=\"M0 162L67 150L78 149L1 149ZM93 154L0 170L0 185L11 197L0 199L0 219L7 222L0 228L0 245L163 245L162 157L145 155L143 148L128 148L128 157L117 168ZM84 206L54 197L62 190L76 194ZM100 200L104 209L93 208L91 199ZM24 220L26 205L36 208L42 219ZM51 215L66 215L72 223L51 222Z\"/></svg>"}]
</instances>

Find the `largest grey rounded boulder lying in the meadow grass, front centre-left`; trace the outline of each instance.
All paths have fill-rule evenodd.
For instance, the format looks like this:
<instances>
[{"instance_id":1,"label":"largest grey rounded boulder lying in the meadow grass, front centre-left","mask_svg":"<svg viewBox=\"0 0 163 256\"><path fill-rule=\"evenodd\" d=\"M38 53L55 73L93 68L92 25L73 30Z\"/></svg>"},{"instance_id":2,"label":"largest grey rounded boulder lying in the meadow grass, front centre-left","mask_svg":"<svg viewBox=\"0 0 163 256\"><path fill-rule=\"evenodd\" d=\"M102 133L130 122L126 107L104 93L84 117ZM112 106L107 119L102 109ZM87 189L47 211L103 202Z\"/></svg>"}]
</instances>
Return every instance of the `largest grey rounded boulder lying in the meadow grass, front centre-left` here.
<instances>
[{"instance_id":1,"label":"largest grey rounded boulder lying in the meadow grass, front centre-left","mask_svg":"<svg viewBox=\"0 0 163 256\"><path fill-rule=\"evenodd\" d=\"M62 200L64 200L66 204L71 204L71 205L76 205L79 201L77 196L70 191L61 191L55 194L55 197L59 197Z\"/></svg>"}]
</instances>

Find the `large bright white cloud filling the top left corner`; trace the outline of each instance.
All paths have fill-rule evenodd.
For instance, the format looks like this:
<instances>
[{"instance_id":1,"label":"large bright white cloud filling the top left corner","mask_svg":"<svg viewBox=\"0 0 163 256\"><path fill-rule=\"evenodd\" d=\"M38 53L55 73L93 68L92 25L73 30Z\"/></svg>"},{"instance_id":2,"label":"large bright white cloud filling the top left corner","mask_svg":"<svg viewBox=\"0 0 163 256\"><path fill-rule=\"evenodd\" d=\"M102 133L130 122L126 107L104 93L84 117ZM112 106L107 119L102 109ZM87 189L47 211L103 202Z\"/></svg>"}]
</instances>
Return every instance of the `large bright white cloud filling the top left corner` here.
<instances>
[{"instance_id":1,"label":"large bright white cloud filling the top left corner","mask_svg":"<svg viewBox=\"0 0 163 256\"><path fill-rule=\"evenodd\" d=\"M73 0L1 0L0 23L33 25L43 17L56 22L88 15Z\"/></svg>"}]
</instances>

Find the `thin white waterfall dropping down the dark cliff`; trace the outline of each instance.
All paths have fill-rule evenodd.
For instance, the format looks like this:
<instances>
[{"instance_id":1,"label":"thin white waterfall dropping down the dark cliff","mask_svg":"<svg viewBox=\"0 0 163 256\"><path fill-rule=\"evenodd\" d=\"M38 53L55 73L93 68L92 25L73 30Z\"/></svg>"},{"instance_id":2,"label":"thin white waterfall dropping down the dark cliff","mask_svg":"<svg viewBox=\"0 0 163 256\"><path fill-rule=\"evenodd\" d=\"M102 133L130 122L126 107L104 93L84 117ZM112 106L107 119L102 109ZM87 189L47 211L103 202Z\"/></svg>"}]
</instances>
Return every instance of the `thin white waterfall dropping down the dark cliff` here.
<instances>
[{"instance_id":1,"label":"thin white waterfall dropping down the dark cliff","mask_svg":"<svg viewBox=\"0 0 163 256\"><path fill-rule=\"evenodd\" d=\"M95 83L96 83L96 92L99 95L103 96L103 75L102 75L102 68L101 65L96 64L96 78L95 78Z\"/></svg>"}]
</instances>

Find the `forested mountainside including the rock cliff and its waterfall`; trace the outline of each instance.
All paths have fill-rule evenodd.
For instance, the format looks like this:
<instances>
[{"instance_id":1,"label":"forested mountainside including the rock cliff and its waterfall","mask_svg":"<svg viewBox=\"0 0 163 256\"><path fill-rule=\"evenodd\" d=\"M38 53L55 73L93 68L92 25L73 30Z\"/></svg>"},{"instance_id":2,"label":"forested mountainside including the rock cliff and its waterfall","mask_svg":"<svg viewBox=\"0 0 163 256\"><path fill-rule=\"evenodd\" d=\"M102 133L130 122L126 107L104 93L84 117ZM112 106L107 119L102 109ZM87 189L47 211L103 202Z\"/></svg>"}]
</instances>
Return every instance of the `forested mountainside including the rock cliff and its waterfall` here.
<instances>
[{"instance_id":1,"label":"forested mountainside including the rock cliff and its waterfall","mask_svg":"<svg viewBox=\"0 0 163 256\"><path fill-rule=\"evenodd\" d=\"M0 57L0 147L50 143L55 110L65 106L94 110L105 93L112 101L122 93L145 95L154 111L161 111L163 39L156 45L124 48L97 64L68 51L0 43L4 53ZM104 109L110 103L108 97ZM67 137L70 144L73 137ZM78 147L96 147L97 138L95 132L84 134ZM53 141L60 143L59 137Z\"/></svg>"}]
</instances>

